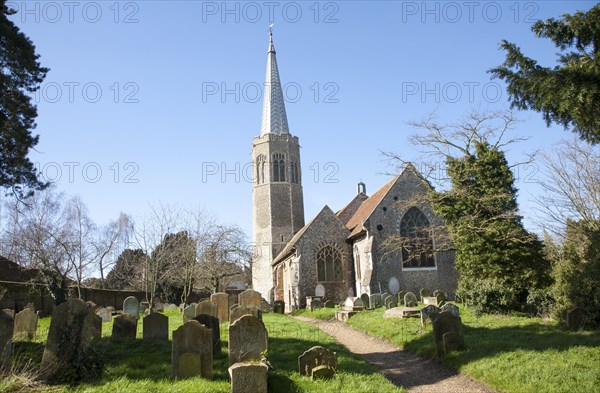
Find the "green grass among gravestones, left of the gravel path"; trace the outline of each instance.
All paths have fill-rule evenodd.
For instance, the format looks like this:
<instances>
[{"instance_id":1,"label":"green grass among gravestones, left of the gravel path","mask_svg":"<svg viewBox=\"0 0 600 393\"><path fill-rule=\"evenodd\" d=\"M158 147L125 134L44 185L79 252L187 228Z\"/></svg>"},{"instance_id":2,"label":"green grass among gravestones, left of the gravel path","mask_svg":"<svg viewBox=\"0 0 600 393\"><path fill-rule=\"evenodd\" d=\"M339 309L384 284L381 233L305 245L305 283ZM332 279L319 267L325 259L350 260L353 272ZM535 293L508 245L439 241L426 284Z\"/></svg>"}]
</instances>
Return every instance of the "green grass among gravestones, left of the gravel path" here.
<instances>
[{"instance_id":1,"label":"green grass among gravestones, left of the gravel path","mask_svg":"<svg viewBox=\"0 0 600 393\"><path fill-rule=\"evenodd\" d=\"M169 331L181 326L181 315L176 310L165 312L169 316ZM375 367L362 358L354 357L337 344L330 336L313 325L291 317L268 313L263 321L269 332L268 358L276 368L269 374L269 392L404 392L395 387ZM39 321L38 336L31 342L15 342L13 363L35 370L44 350L44 338L50 318ZM141 324L140 324L141 325ZM77 386L25 386L23 381L9 378L0 381L0 391L65 391L65 392L230 392L228 381L227 339L228 324L221 325L223 351L213 361L214 379L191 378L172 381L171 341L145 342L137 339L131 342L115 343L110 340L112 323L102 326L103 337L94 344L94 349L105 363L102 378L83 381ZM138 337L142 327L138 326ZM170 335L171 337L171 335ZM298 356L314 345L323 345L337 352L339 369L335 378L329 381L311 381L298 374ZM23 369L25 367L21 367Z\"/></svg>"}]
</instances>

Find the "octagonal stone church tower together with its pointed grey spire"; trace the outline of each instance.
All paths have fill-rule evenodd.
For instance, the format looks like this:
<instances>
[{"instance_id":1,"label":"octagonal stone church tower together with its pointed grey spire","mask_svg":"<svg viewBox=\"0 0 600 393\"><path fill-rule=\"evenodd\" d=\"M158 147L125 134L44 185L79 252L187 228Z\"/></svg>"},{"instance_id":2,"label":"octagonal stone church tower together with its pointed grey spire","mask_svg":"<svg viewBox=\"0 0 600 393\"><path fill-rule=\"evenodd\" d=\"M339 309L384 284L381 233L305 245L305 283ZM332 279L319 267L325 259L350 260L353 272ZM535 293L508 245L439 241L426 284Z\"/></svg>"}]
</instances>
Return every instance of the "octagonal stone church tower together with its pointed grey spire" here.
<instances>
[{"instance_id":1,"label":"octagonal stone church tower together with its pointed grey spire","mask_svg":"<svg viewBox=\"0 0 600 393\"><path fill-rule=\"evenodd\" d=\"M252 141L252 286L271 302L273 258L304 226L298 137L290 134L273 34L269 32L262 127Z\"/></svg>"}]
</instances>

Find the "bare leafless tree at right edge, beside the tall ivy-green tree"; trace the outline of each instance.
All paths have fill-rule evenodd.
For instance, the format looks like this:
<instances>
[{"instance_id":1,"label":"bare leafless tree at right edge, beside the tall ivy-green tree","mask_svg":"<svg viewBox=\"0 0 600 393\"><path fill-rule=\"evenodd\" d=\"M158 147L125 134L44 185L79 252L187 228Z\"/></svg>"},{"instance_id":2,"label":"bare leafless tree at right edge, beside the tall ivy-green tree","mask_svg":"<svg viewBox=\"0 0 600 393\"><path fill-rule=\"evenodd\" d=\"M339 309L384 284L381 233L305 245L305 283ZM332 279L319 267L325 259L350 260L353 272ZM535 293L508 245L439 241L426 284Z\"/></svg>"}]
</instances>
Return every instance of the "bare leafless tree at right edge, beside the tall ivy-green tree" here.
<instances>
[{"instance_id":1,"label":"bare leafless tree at right edge, beside the tall ivy-green tree","mask_svg":"<svg viewBox=\"0 0 600 393\"><path fill-rule=\"evenodd\" d=\"M562 236L569 220L600 222L600 148L565 140L544 153L543 162L546 178L536 198L540 226Z\"/></svg>"}]
</instances>

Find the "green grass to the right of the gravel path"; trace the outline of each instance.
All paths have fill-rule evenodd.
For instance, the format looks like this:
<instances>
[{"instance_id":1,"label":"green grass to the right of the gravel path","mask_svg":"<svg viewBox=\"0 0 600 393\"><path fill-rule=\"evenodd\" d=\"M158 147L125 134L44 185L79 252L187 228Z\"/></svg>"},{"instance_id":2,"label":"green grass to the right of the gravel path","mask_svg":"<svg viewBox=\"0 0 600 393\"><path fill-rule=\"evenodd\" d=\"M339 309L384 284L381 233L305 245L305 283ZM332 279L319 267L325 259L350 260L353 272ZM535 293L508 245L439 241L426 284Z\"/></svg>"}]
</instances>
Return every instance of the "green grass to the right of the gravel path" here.
<instances>
[{"instance_id":1,"label":"green grass to the right of the gravel path","mask_svg":"<svg viewBox=\"0 0 600 393\"><path fill-rule=\"evenodd\" d=\"M431 326L384 319L384 309L361 312L348 324L422 357L435 356ZM600 332L568 332L540 318L485 315L461 307L467 350L444 363L507 393L587 393L600 386Z\"/></svg>"}]
</instances>

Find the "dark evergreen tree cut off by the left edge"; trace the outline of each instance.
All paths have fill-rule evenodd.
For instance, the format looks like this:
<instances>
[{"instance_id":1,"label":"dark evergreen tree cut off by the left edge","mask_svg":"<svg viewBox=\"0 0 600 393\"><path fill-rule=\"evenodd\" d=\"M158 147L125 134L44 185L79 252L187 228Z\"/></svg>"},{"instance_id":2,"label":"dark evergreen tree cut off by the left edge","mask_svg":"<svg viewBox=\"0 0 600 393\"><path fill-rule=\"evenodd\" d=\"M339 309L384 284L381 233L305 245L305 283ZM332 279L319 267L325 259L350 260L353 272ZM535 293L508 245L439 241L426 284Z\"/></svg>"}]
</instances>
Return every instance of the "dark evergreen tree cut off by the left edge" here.
<instances>
[{"instance_id":1,"label":"dark evergreen tree cut off by the left edge","mask_svg":"<svg viewBox=\"0 0 600 393\"><path fill-rule=\"evenodd\" d=\"M14 13L0 0L0 187L23 198L47 186L27 155L39 139L31 133L37 117L31 93L48 69L31 40L8 19Z\"/></svg>"}]
</instances>

